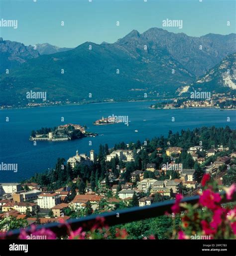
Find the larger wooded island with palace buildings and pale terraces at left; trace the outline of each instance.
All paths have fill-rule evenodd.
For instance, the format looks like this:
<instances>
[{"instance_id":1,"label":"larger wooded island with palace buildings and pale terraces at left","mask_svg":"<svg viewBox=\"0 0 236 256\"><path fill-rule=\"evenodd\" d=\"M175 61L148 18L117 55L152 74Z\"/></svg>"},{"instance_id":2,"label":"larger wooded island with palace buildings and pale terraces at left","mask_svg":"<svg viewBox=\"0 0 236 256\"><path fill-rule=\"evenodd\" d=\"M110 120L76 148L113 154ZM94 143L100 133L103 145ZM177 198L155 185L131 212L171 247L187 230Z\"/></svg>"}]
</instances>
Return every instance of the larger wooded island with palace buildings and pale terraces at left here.
<instances>
[{"instance_id":1,"label":"larger wooded island with palace buildings and pale terraces at left","mask_svg":"<svg viewBox=\"0 0 236 256\"><path fill-rule=\"evenodd\" d=\"M36 131L32 130L29 140L64 141L96 135L98 134L86 131L86 127L67 124L54 128L41 128Z\"/></svg>"}]
</instances>

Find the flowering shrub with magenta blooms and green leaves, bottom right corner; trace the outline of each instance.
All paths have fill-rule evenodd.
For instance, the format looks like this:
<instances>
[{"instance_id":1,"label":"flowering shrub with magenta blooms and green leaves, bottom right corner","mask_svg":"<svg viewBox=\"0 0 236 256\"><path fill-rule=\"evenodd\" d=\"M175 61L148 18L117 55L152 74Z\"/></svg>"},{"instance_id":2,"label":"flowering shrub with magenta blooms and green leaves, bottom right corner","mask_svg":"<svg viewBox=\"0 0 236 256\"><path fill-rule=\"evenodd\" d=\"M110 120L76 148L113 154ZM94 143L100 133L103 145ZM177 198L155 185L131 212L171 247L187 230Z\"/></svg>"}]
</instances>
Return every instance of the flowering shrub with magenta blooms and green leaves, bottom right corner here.
<instances>
[{"instance_id":1,"label":"flowering shrub with magenta blooms and green leaves, bottom right corner","mask_svg":"<svg viewBox=\"0 0 236 256\"><path fill-rule=\"evenodd\" d=\"M201 183L204 191L195 205L181 203L182 196L177 195L171 210L173 213L180 213L182 207L185 211L180 215L180 227L173 232L173 238L235 239L236 206L230 209L227 204L222 203L223 196L209 174L204 175ZM227 200L231 200L236 192L236 185L225 188L225 191Z\"/></svg>"}]
</instances>

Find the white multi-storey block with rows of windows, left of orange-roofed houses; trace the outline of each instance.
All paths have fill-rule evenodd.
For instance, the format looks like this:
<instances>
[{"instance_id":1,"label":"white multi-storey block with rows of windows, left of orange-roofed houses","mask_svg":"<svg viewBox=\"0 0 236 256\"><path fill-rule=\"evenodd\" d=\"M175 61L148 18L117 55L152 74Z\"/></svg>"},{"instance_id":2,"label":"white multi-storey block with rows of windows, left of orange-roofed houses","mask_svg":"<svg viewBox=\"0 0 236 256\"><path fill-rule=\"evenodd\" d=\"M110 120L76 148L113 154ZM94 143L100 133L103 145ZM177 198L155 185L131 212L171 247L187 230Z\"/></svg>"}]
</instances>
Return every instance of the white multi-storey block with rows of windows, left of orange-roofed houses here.
<instances>
[{"instance_id":1,"label":"white multi-storey block with rows of windows, left of orange-roofed houses","mask_svg":"<svg viewBox=\"0 0 236 256\"><path fill-rule=\"evenodd\" d=\"M57 193L43 193L38 196L37 203L40 208L43 209L50 209L54 207L55 205L60 204L61 202L61 196Z\"/></svg>"}]
</instances>

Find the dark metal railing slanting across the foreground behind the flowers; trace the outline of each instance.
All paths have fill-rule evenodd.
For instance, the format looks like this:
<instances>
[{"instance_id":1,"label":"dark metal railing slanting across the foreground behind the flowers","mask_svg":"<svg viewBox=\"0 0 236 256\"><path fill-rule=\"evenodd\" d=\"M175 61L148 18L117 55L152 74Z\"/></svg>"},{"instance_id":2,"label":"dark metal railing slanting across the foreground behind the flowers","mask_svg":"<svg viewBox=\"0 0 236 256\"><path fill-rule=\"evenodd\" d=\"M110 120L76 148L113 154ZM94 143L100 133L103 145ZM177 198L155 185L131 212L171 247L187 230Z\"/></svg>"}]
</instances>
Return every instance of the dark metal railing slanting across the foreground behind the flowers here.
<instances>
[{"instance_id":1,"label":"dark metal railing slanting across the foreground behind the flowers","mask_svg":"<svg viewBox=\"0 0 236 256\"><path fill-rule=\"evenodd\" d=\"M232 200L226 200L226 193L223 192L223 200L222 203L236 201L236 193L233 195ZM181 203L187 202L189 204L195 204L199 200L199 195L193 197L185 197L181 200ZM97 214L97 215L89 215L86 217L82 217L79 219L71 219L68 220L67 223L70 225L71 230L77 230L82 227L84 231L88 231L92 228L92 226L96 223L98 217L105 218L105 224L109 227L124 224L133 221L139 221L149 218L158 217L164 215L165 213L171 213L171 206L174 204L175 200L168 200L164 202L153 203L149 206L143 207L132 207L123 210L117 210L113 212ZM183 210L183 209L182 209ZM39 225L36 227L36 230L40 230L42 228L46 228L54 232L58 237L66 236L68 233L67 226L63 223L49 223L45 225ZM25 231L30 232L31 228L25 228ZM20 234L20 230L9 231L5 239L17 239Z\"/></svg>"}]
</instances>

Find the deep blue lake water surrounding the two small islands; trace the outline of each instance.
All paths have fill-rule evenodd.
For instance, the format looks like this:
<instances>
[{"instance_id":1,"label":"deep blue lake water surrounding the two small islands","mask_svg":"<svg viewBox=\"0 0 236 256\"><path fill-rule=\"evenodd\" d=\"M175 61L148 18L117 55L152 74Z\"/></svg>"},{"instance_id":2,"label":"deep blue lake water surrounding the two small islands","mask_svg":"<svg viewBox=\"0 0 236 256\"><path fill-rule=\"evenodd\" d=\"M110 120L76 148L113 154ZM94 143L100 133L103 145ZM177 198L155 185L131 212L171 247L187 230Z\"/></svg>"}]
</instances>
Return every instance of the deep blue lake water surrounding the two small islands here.
<instances>
[{"instance_id":1,"label":"deep blue lake water surrounding the two small islands","mask_svg":"<svg viewBox=\"0 0 236 256\"><path fill-rule=\"evenodd\" d=\"M153 103L153 102L152 102ZM168 131L180 131L186 128L202 126L236 128L235 111L218 109L173 109L151 110L151 102L100 103L89 105L67 105L31 109L0 111L0 163L17 163L18 171L0 171L1 182L15 182L31 177L55 166L58 157L68 159L91 149L98 152L100 144L126 143L137 139L167 135ZM93 126L93 122L102 116L128 116L129 126L122 123L108 126ZM9 122L5 122L6 117ZM61 122L64 117L64 122ZM175 122L172 122L172 117ZM230 122L227 118L230 117ZM144 121L145 120L145 121ZM34 146L29 141L31 130L41 127L55 127L61 124L86 125L88 131L97 132L96 137L86 137L73 141L43 142ZM138 130L135 132L134 130ZM101 135L104 134L104 135ZM89 141L92 145L89 145Z\"/></svg>"}]
</instances>

